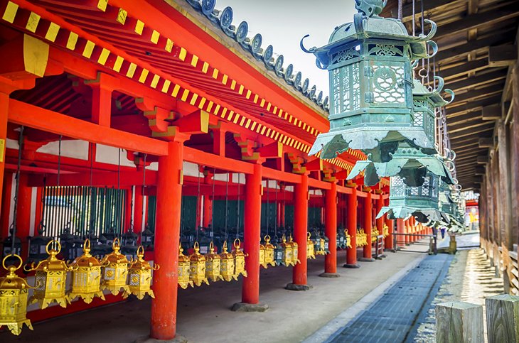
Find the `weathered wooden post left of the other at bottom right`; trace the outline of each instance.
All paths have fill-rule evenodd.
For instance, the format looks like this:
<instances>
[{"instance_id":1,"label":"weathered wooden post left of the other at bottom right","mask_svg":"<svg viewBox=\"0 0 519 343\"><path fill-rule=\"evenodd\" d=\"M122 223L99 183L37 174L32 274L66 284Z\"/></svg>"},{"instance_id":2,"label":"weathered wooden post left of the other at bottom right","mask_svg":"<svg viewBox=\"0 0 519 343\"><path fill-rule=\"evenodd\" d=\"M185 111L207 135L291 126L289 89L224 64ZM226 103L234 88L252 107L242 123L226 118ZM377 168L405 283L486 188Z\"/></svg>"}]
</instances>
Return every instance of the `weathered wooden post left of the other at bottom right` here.
<instances>
[{"instance_id":1,"label":"weathered wooden post left of the other at bottom right","mask_svg":"<svg viewBox=\"0 0 519 343\"><path fill-rule=\"evenodd\" d=\"M483 342L483 306L462 301L436 305L436 342Z\"/></svg>"}]
</instances>

